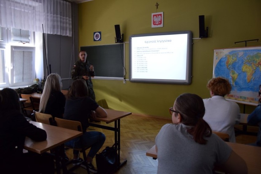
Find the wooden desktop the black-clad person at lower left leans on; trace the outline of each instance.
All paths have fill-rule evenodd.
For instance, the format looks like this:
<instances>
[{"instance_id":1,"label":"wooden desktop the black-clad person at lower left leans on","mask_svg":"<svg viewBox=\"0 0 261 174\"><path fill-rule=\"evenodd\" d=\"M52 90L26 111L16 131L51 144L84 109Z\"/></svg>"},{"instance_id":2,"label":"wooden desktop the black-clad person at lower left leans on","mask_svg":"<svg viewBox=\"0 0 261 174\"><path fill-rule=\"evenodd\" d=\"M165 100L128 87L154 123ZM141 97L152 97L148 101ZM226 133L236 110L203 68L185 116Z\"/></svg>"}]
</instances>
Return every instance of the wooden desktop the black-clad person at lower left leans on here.
<instances>
[{"instance_id":1,"label":"wooden desktop the black-clad person at lower left leans on","mask_svg":"<svg viewBox=\"0 0 261 174\"><path fill-rule=\"evenodd\" d=\"M50 149L53 149L69 140L72 140L82 135L82 132L75 131L75 130L65 129L57 126L51 126L48 124L38 123L34 121L30 121L30 123L32 123L36 127L45 130L47 133L47 139L41 142L33 141L28 137L25 138L24 149L39 154L47 152Z\"/></svg>"}]
</instances>

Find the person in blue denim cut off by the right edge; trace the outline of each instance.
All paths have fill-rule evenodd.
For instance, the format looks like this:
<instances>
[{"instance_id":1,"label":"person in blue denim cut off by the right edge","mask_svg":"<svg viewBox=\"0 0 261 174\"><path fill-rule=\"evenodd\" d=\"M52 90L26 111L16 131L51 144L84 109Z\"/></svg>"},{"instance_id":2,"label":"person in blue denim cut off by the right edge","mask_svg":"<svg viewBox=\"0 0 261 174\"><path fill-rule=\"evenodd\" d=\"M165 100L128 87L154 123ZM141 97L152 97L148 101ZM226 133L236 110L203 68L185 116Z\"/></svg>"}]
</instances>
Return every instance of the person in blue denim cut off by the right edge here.
<instances>
[{"instance_id":1,"label":"person in blue denim cut off by the right edge","mask_svg":"<svg viewBox=\"0 0 261 174\"><path fill-rule=\"evenodd\" d=\"M255 143L251 144L254 146L261 146L261 85L259 85L259 104L255 108L255 110L248 115L248 124L249 125L259 125L258 133L257 133L257 140Z\"/></svg>"}]
</instances>

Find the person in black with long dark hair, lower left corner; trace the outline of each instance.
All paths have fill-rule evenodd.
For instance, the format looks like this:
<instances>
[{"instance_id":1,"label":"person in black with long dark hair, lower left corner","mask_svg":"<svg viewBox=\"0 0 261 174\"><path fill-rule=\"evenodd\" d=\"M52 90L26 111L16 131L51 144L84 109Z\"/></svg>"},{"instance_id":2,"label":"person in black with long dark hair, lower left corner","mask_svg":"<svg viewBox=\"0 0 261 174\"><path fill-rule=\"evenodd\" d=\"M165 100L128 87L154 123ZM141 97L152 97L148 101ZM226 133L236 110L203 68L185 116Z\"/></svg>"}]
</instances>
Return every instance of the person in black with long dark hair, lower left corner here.
<instances>
[{"instance_id":1,"label":"person in black with long dark hair, lower left corner","mask_svg":"<svg viewBox=\"0 0 261 174\"><path fill-rule=\"evenodd\" d=\"M26 120L21 113L19 96L13 89L0 90L0 119L1 173L54 173L53 157L46 153L23 153L25 137L44 141L47 134Z\"/></svg>"}]
</instances>

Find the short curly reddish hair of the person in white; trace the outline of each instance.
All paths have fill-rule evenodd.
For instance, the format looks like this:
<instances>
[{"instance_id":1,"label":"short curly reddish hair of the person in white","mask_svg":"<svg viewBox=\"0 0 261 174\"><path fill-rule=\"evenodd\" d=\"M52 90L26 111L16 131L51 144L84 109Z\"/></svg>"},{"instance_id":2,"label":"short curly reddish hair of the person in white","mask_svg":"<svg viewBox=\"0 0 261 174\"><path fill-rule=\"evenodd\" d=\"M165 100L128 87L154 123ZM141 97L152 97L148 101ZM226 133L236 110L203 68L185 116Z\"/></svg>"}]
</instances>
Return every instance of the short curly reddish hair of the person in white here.
<instances>
[{"instance_id":1,"label":"short curly reddish hair of the person in white","mask_svg":"<svg viewBox=\"0 0 261 174\"><path fill-rule=\"evenodd\" d=\"M210 79L207 83L207 88L213 91L215 96L225 96L232 89L228 79L222 77Z\"/></svg>"}]
</instances>

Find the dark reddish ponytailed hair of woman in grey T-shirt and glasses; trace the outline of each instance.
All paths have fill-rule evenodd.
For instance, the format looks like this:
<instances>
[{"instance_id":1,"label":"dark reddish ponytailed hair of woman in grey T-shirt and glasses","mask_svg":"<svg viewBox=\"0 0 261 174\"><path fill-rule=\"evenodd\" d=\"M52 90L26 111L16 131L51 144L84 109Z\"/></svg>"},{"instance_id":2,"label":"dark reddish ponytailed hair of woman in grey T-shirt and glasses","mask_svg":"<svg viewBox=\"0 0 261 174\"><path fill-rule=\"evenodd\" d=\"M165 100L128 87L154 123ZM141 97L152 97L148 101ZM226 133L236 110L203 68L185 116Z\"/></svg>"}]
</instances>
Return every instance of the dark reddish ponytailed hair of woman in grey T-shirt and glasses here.
<instances>
[{"instance_id":1,"label":"dark reddish ponytailed hair of woman in grey T-shirt and glasses","mask_svg":"<svg viewBox=\"0 0 261 174\"><path fill-rule=\"evenodd\" d=\"M176 99L174 108L182 117L181 123L193 126L187 131L193 135L195 142L206 144L207 140L204 137L210 137L212 130L203 120L205 106L202 98L196 94L181 94Z\"/></svg>"}]
</instances>

